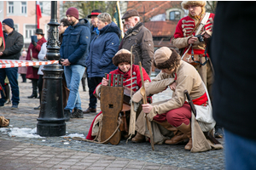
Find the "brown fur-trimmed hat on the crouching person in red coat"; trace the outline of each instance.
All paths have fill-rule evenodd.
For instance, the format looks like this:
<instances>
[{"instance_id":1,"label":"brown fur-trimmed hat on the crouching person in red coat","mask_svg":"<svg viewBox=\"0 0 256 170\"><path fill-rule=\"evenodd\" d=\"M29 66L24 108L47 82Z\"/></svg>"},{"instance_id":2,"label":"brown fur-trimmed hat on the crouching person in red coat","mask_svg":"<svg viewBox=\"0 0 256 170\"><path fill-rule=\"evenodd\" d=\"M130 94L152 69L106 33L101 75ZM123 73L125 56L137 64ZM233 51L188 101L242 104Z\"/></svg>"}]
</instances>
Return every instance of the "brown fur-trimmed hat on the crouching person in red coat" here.
<instances>
[{"instance_id":1,"label":"brown fur-trimmed hat on the crouching person in red coat","mask_svg":"<svg viewBox=\"0 0 256 170\"><path fill-rule=\"evenodd\" d=\"M127 49L120 49L112 58L113 65L118 66L120 63L127 62L131 64L131 52ZM134 55L132 54L132 64L134 63Z\"/></svg>"}]
</instances>

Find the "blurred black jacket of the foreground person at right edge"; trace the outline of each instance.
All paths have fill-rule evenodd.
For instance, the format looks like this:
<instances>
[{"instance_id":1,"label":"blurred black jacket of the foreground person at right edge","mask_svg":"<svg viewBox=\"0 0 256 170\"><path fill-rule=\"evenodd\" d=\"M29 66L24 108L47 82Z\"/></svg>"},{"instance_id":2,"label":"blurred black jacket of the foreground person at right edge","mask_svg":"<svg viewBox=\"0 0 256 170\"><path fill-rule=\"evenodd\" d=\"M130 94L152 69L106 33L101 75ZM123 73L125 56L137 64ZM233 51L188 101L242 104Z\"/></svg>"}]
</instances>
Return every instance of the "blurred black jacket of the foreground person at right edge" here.
<instances>
[{"instance_id":1,"label":"blurred black jacket of the foreground person at right edge","mask_svg":"<svg viewBox=\"0 0 256 170\"><path fill-rule=\"evenodd\" d=\"M250 139L256 139L255 8L253 1L219 1L210 50L213 118L231 133Z\"/></svg>"}]
</instances>

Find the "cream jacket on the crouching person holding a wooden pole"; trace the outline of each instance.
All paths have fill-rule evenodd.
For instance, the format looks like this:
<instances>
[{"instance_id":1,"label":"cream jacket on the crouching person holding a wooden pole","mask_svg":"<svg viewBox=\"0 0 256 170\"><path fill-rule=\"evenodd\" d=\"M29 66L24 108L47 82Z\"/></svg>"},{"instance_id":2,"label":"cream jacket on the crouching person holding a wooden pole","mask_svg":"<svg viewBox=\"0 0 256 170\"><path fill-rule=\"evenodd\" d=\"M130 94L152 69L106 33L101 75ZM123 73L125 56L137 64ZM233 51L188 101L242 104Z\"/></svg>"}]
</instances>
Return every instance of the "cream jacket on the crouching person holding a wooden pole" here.
<instances>
[{"instance_id":1,"label":"cream jacket on the crouching person holding a wooden pole","mask_svg":"<svg viewBox=\"0 0 256 170\"><path fill-rule=\"evenodd\" d=\"M205 88L202 84L203 82L201 81L201 77L195 70L195 67L193 65L189 65L188 63L181 60L180 65L178 65L177 67L176 75L177 85L174 93L172 94L172 99L160 105L154 105L153 109L148 114L148 118L150 121L153 120L153 117L156 116L156 114L163 114L167 111L182 107L185 102L184 90L188 90L191 99L200 98L203 94L206 93ZM169 82L171 82L170 84L172 84L172 76L160 72L158 76L155 77L152 82L150 82L151 84L149 83L148 87L150 87L150 89L159 88L161 87L160 83L162 83L162 81L165 79L169 79ZM150 92L150 89L147 93L153 94L152 92Z\"/></svg>"}]
</instances>

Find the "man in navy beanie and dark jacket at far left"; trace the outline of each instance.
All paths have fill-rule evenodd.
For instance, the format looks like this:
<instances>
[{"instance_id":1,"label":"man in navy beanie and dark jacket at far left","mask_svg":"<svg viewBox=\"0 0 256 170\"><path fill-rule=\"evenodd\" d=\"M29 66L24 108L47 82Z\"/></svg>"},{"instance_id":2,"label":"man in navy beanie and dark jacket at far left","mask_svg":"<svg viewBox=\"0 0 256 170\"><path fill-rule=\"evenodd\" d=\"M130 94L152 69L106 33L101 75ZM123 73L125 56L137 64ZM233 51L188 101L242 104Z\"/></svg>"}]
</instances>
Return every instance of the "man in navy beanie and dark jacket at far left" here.
<instances>
[{"instance_id":1,"label":"man in navy beanie and dark jacket at far left","mask_svg":"<svg viewBox=\"0 0 256 170\"><path fill-rule=\"evenodd\" d=\"M23 48L24 39L23 36L15 31L14 20L3 20L3 32L5 49L0 52L0 59L19 59L20 51ZM18 85L18 68L5 68L0 69L0 83L4 84L5 77L8 77L9 84L12 89L12 107L11 109L17 109L20 103L20 91ZM1 91L0 107L4 105L5 99L3 92Z\"/></svg>"}]
</instances>

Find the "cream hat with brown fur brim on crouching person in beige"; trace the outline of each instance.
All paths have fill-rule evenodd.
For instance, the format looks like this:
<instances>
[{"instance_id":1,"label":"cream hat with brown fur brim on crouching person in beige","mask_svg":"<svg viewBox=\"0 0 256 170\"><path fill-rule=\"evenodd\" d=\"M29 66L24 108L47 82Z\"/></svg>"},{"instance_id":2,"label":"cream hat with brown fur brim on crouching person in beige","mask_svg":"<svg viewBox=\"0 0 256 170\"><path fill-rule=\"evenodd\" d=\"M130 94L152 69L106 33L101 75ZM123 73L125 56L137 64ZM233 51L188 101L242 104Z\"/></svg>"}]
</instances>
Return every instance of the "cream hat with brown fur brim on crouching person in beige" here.
<instances>
[{"instance_id":1,"label":"cream hat with brown fur brim on crouching person in beige","mask_svg":"<svg viewBox=\"0 0 256 170\"><path fill-rule=\"evenodd\" d=\"M154 66L160 70L176 68L180 59L180 55L173 48L162 47L154 52Z\"/></svg>"}]
</instances>

